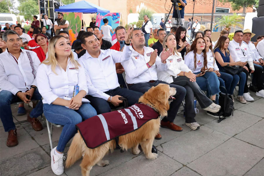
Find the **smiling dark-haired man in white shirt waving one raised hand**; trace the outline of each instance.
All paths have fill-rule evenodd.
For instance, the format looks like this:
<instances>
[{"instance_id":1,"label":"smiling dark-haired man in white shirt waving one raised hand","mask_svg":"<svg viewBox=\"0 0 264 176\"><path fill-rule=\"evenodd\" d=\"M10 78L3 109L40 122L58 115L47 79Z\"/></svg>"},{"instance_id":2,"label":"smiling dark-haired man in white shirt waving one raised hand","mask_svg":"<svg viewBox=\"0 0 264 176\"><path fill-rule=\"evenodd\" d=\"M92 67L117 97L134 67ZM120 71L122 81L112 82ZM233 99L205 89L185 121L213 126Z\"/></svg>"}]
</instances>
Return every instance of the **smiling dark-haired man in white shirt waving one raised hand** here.
<instances>
[{"instance_id":1,"label":"smiling dark-haired man in white shirt waving one raised hand","mask_svg":"<svg viewBox=\"0 0 264 176\"><path fill-rule=\"evenodd\" d=\"M123 52L116 50L101 50L100 42L92 32L82 34L81 43L86 53L79 58L79 63L84 66L85 75L88 85L88 99L91 105L96 109L97 114L110 112L110 102L114 106L118 106L123 101L119 97L125 97L128 105L131 106L138 102L142 95L119 87L116 65L129 59L131 51L129 49L129 32L126 34ZM108 102L107 102L108 101Z\"/></svg>"}]
</instances>

